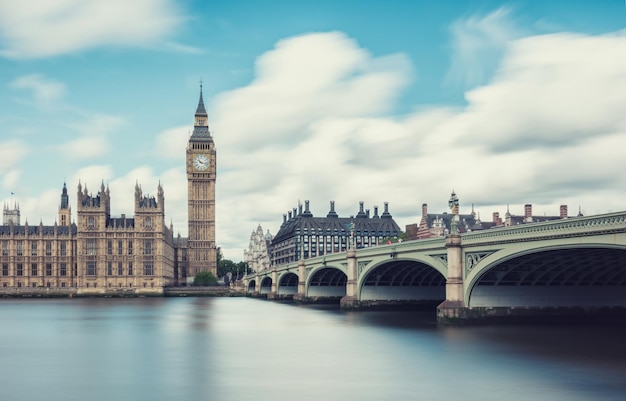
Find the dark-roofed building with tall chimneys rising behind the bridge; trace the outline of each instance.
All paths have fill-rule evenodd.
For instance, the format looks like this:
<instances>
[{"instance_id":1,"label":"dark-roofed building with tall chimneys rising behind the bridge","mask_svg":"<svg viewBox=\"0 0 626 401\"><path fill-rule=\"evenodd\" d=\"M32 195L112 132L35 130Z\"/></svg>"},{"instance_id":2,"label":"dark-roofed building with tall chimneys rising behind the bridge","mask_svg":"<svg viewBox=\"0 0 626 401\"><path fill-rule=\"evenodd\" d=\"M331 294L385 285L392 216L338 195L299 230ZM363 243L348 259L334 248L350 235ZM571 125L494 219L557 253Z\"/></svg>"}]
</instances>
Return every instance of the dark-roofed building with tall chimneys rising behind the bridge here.
<instances>
[{"instance_id":1,"label":"dark-roofed building with tall chimneys rising behind the bridge","mask_svg":"<svg viewBox=\"0 0 626 401\"><path fill-rule=\"evenodd\" d=\"M326 217L314 217L309 209L309 201L283 215L283 223L270 245L272 265L295 262L300 258L345 252L349 248L350 230L354 230L357 248L376 246L387 238L400 235L401 230L389 213L388 203L382 215L374 206L374 215L363 210L359 203L356 216L339 217L335 212L335 202L330 202L330 211Z\"/></svg>"}]
</instances>

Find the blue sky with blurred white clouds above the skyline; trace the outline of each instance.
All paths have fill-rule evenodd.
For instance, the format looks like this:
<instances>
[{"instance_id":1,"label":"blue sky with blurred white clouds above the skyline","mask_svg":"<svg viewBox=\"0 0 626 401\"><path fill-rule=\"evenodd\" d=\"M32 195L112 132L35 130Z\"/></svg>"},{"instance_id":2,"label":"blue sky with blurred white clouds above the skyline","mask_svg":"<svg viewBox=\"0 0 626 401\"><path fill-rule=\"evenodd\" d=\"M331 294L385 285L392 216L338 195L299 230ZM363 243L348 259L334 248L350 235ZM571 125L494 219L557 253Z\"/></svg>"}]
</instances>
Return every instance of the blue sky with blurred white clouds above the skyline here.
<instances>
[{"instance_id":1,"label":"blue sky with blurred white clouds above the skyline","mask_svg":"<svg viewBox=\"0 0 626 401\"><path fill-rule=\"evenodd\" d=\"M305 200L626 210L623 0L0 0L0 201L51 225L104 182L131 216L160 182L186 236L200 81L227 259Z\"/></svg>"}]
</instances>

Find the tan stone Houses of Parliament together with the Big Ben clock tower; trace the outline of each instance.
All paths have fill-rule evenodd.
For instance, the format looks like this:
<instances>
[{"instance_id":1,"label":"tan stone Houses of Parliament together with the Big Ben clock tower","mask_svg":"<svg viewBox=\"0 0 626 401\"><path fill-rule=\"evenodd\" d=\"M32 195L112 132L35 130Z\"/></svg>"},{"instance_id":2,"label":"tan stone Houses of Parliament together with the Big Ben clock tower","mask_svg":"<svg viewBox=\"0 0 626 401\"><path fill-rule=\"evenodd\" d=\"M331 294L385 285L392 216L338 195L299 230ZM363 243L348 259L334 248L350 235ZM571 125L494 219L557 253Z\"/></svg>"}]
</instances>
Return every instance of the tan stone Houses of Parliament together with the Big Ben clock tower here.
<instances>
[{"instance_id":1,"label":"tan stone Houses of Parliament together with the Big Ben clock tower","mask_svg":"<svg viewBox=\"0 0 626 401\"><path fill-rule=\"evenodd\" d=\"M0 225L0 291L44 288L77 295L162 294L201 271L217 273L215 181L217 154L200 99L186 149L188 237L165 224L165 192L135 185L135 215L113 217L111 193L79 182L76 220L64 184L53 226L21 224L19 205L5 204Z\"/></svg>"}]
</instances>

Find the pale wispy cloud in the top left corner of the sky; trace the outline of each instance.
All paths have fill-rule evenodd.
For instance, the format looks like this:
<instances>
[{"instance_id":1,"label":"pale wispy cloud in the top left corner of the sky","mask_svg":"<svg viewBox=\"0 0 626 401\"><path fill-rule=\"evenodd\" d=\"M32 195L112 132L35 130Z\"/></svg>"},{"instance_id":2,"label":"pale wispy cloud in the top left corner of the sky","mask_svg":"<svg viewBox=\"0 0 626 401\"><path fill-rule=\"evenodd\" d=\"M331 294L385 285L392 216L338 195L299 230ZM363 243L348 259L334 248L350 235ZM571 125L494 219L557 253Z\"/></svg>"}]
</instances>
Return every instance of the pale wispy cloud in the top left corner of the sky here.
<instances>
[{"instance_id":1,"label":"pale wispy cloud in the top left corner of the sky","mask_svg":"<svg viewBox=\"0 0 626 401\"><path fill-rule=\"evenodd\" d=\"M0 55L40 58L107 45L148 46L182 22L171 0L0 0Z\"/></svg>"}]
</instances>

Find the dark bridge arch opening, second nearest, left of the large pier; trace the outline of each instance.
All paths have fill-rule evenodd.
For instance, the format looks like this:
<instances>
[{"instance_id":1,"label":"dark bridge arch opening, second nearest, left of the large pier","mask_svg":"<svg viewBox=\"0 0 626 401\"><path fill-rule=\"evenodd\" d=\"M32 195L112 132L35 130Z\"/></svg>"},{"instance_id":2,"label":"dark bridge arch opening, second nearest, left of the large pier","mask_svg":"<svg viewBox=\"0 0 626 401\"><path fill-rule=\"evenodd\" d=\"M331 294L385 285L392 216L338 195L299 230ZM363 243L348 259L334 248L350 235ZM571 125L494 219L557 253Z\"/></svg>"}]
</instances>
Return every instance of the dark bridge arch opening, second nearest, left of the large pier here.
<instances>
[{"instance_id":1,"label":"dark bridge arch opening, second nearest, left of the large pier","mask_svg":"<svg viewBox=\"0 0 626 401\"><path fill-rule=\"evenodd\" d=\"M446 277L431 264L398 258L369 264L360 276L361 301L420 301L440 303L446 299Z\"/></svg>"}]
</instances>

